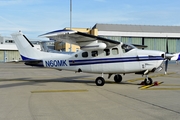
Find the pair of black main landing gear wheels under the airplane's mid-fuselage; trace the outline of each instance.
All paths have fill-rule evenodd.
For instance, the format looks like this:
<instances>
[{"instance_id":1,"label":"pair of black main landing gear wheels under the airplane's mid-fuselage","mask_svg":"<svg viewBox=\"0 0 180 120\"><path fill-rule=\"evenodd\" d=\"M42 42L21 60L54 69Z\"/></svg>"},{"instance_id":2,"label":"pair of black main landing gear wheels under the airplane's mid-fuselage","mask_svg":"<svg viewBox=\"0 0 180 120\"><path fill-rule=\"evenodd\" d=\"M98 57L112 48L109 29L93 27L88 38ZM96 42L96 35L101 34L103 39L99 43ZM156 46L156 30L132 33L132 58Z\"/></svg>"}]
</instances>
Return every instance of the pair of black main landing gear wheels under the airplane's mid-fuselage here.
<instances>
[{"instance_id":1,"label":"pair of black main landing gear wheels under the airplane's mid-fuselage","mask_svg":"<svg viewBox=\"0 0 180 120\"><path fill-rule=\"evenodd\" d=\"M122 76L117 74L114 76L114 81L116 83L120 83L122 81ZM103 74L102 74L102 77L97 77L96 80L95 80L95 83L97 86L103 86L105 84L105 80L103 78Z\"/></svg>"}]
</instances>

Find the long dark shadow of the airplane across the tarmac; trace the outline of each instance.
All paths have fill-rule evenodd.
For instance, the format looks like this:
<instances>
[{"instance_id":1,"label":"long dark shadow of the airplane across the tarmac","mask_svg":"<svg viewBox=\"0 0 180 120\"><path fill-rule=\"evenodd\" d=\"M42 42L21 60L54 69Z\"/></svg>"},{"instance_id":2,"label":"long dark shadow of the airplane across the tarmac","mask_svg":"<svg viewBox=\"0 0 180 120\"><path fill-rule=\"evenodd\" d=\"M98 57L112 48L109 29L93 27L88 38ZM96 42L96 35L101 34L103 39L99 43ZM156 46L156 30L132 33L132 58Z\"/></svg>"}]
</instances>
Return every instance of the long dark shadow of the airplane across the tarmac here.
<instances>
[{"instance_id":1,"label":"long dark shadow of the airplane across the tarmac","mask_svg":"<svg viewBox=\"0 0 180 120\"><path fill-rule=\"evenodd\" d=\"M55 78L55 79L34 79L34 78L18 78L18 79L1 79L0 89L1 88L9 88L9 87L18 87L18 86L26 86L26 85L34 85L34 86L45 86L43 83L48 82L56 82L56 83L83 83L88 86L96 86L95 79L90 78L91 76L72 76L72 77L63 77L63 78ZM88 80L87 80L88 78ZM84 79L84 80L83 80ZM8 83L7 83L8 82ZM11 82L11 83L9 83ZM13 82L13 83L12 83ZM106 81L105 84L129 84L129 85L139 85L136 83L130 83L126 81L122 81L121 83L115 83L114 81Z\"/></svg>"}]
</instances>

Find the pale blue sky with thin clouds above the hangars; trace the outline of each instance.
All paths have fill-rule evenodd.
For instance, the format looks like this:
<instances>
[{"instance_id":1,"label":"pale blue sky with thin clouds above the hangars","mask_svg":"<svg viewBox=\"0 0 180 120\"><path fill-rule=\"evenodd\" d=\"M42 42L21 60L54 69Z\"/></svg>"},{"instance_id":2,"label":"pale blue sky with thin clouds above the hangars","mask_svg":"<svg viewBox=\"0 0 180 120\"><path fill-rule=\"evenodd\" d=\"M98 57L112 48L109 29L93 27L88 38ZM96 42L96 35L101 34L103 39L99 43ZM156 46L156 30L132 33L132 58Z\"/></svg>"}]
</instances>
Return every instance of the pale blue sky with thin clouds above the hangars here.
<instances>
[{"instance_id":1,"label":"pale blue sky with thin clouds above the hangars","mask_svg":"<svg viewBox=\"0 0 180 120\"><path fill-rule=\"evenodd\" d=\"M72 27L96 23L180 26L180 0L72 0ZM30 38L70 26L70 0L0 0L0 34Z\"/></svg>"}]
</instances>

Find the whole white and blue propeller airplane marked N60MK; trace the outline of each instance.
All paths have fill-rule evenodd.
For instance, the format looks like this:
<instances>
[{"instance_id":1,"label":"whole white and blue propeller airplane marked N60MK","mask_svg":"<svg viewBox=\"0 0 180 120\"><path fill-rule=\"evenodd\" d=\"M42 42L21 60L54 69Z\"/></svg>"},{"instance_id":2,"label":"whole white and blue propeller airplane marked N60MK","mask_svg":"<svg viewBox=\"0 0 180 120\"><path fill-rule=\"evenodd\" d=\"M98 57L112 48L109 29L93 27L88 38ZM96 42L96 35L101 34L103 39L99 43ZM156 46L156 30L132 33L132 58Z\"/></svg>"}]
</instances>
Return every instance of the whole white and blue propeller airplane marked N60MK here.
<instances>
[{"instance_id":1,"label":"whole white and blue propeller airplane marked N60MK","mask_svg":"<svg viewBox=\"0 0 180 120\"><path fill-rule=\"evenodd\" d=\"M173 57L162 51L137 49L133 45L73 30L57 30L40 36L79 45L81 50L73 54L43 52L36 50L21 32L12 34L26 65L101 74L95 80L97 86L105 84L103 74L108 74L108 78L115 74L114 81L119 83L122 81L120 74L126 73L145 75L144 83L152 84L148 74L160 71L163 61Z\"/></svg>"}]
</instances>

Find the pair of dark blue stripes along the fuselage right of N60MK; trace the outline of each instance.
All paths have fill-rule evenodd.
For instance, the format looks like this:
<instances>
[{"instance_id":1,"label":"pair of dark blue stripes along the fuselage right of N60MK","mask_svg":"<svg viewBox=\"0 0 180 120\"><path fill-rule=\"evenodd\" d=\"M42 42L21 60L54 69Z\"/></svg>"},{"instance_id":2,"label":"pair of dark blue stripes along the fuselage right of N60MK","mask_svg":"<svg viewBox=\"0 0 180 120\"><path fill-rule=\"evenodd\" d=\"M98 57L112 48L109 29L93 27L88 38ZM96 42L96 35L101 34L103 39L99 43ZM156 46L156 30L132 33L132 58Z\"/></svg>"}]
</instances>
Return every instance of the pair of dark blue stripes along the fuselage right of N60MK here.
<instances>
[{"instance_id":1,"label":"pair of dark blue stripes along the fuselage right of N60MK","mask_svg":"<svg viewBox=\"0 0 180 120\"><path fill-rule=\"evenodd\" d=\"M161 56L99 58L99 59L69 60L69 64L70 64L70 66L76 66L76 65L135 62L135 61L136 62L138 62L138 61L154 61L154 60L163 60L163 58Z\"/></svg>"}]
</instances>

